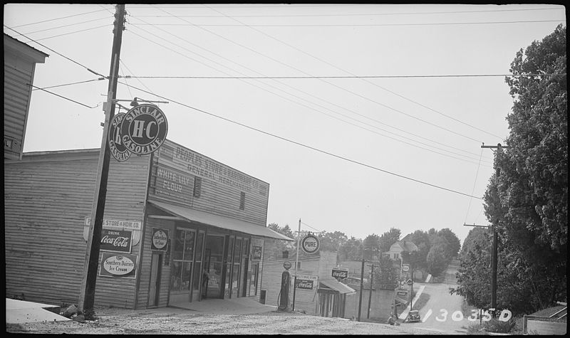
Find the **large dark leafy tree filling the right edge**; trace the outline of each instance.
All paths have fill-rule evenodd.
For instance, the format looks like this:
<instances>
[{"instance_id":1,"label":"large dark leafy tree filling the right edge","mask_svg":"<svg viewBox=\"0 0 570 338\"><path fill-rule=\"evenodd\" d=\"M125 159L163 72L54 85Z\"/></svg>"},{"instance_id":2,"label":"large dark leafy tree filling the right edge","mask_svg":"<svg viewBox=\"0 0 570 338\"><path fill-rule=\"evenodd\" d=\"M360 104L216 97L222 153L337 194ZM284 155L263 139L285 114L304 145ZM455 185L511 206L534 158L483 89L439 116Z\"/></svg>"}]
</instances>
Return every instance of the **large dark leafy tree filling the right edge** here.
<instances>
[{"instance_id":1,"label":"large dark leafy tree filling the right edge","mask_svg":"<svg viewBox=\"0 0 570 338\"><path fill-rule=\"evenodd\" d=\"M514 98L507 115L508 148L496 152L484 209L499 236L497 306L529 313L566 301L566 28L558 26L519 51L511 73L506 79ZM470 292L490 282L486 252L479 247L462 250L460 285L452 290L477 305L483 300Z\"/></svg>"}]
</instances>

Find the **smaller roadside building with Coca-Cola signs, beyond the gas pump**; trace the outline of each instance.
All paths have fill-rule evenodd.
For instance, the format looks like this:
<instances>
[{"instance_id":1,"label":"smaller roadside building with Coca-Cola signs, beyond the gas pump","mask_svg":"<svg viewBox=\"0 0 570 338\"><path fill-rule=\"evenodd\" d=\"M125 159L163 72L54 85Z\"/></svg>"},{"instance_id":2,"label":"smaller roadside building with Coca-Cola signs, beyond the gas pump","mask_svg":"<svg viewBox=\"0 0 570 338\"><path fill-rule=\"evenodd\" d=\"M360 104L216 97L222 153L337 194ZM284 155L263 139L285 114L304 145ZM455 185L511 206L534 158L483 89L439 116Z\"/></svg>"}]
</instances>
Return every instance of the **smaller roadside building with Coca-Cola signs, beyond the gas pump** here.
<instances>
[{"instance_id":1,"label":"smaller roadside building with Coca-Cola signs, beyond the gas pump","mask_svg":"<svg viewBox=\"0 0 570 338\"><path fill-rule=\"evenodd\" d=\"M276 307L281 304L281 297L284 297L281 295L281 275L286 270L286 262L292 264L289 269L291 287L286 296L289 309L322 317L345 317L346 297L355 291L332 277L332 270L336 267L336 253L329 251L319 250L313 255L299 255L296 288L293 287L296 255L266 260L261 278L265 304Z\"/></svg>"}]
</instances>

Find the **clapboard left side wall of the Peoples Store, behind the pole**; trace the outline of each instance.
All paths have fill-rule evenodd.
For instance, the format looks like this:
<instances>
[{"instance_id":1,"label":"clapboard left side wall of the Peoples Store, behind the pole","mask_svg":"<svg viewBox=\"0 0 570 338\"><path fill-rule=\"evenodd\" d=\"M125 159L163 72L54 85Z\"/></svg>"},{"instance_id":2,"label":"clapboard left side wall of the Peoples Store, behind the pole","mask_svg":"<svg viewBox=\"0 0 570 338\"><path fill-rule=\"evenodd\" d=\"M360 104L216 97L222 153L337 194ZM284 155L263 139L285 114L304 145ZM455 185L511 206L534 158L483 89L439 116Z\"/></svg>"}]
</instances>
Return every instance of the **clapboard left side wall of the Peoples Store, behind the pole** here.
<instances>
[{"instance_id":1,"label":"clapboard left side wall of the Peoples Store, behind the pole","mask_svg":"<svg viewBox=\"0 0 570 338\"><path fill-rule=\"evenodd\" d=\"M113 161L104 217L142 221L148 159ZM24 293L36 302L78 302L83 224L93 206L97 163L93 150L5 160L6 297ZM139 245L131 253L138 255ZM132 307L134 286L135 279L98 277L95 305Z\"/></svg>"}]
</instances>

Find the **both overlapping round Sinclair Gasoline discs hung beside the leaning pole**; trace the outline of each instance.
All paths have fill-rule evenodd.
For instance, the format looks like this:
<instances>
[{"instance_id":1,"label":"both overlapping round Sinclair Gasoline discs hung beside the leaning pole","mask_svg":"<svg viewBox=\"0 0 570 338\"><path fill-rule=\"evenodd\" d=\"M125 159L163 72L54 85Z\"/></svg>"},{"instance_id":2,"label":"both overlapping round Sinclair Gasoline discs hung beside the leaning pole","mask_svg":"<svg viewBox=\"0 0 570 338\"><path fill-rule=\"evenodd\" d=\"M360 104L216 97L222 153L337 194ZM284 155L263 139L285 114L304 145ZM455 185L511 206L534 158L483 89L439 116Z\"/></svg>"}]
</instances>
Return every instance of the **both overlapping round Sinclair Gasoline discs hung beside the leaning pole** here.
<instances>
[{"instance_id":1,"label":"both overlapping round Sinclair Gasoline discs hung beside the leaning pole","mask_svg":"<svg viewBox=\"0 0 570 338\"><path fill-rule=\"evenodd\" d=\"M147 103L113 117L109 127L109 148L113 157L126 161L130 154L146 155L155 152L168 133L165 113Z\"/></svg>"}]
</instances>

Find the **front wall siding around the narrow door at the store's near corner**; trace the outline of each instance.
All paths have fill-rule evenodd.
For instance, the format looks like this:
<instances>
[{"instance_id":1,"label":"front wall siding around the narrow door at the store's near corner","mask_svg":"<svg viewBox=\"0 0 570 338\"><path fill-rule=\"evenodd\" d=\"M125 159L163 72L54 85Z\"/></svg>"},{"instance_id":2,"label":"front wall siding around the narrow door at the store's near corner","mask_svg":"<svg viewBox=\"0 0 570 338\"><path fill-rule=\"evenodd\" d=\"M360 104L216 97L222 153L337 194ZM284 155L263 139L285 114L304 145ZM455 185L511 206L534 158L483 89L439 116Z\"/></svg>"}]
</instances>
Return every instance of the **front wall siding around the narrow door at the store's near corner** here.
<instances>
[{"instance_id":1,"label":"front wall siding around the narrow door at the store's near corner","mask_svg":"<svg viewBox=\"0 0 570 338\"><path fill-rule=\"evenodd\" d=\"M174 236L175 223L173 221L167 221L157 218L147 218L145 222L145 245L142 252L142 264L140 269L140 284L139 292L137 296L137 308L145 309L148 307L148 292L150 288L150 263L152 259L153 251L150 250L150 244L152 241L152 228L165 228L170 230L170 238ZM172 244L170 245L172 249ZM172 257L172 256L171 256ZM158 307L166 307L168 305L168 296L170 290L170 266L172 263L169 262L165 265L166 255L162 253L162 265L160 266L160 294L158 300Z\"/></svg>"}]
</instances>

